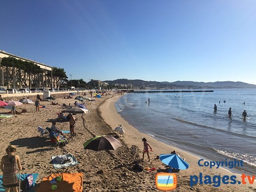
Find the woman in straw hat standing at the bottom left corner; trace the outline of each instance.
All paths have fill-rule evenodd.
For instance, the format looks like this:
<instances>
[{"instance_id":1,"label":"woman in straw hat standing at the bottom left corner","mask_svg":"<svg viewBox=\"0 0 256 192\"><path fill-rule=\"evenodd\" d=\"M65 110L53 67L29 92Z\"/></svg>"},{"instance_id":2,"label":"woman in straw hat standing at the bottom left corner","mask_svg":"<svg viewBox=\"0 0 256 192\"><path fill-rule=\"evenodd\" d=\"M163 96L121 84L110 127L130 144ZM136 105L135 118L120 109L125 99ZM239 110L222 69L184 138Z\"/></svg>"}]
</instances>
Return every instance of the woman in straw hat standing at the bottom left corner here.
<instances>
[{"instance_id":1,"label":"woman in straw hat standing at the bottom left corner","mask_svg":"<svg viewBox=\"0 0 256 192\"><path fill-rule=\"evenodd\" d=\"M11 188L14 192L18 192L17 168L21 170L21 165L20 157L15 154L16 151L14 145L9 145L6 148L7 155L3 156L1 161L0 168L3 172L3 186L6 188L6 192L9 192Z\"/></svg>"}]
</instances>

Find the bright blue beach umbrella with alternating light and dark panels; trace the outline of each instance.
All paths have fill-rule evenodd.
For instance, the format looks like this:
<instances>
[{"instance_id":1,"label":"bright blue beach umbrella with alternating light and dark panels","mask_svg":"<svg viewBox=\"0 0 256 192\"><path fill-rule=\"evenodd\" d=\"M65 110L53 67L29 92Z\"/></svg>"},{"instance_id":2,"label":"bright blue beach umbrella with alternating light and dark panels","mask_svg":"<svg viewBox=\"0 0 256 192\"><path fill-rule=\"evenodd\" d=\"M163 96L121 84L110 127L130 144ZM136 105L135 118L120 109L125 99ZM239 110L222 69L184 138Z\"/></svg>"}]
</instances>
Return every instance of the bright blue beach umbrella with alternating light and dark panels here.
<instances>
[{"instance_id":1,"label":"bright blue beach umbrella with alternating light and dark panels","mask_svg":"<svg viewBox=\"0 0 256 192\"><path fill-rule=\"evenodd\" d=\"M189 163L180 158L177 154L161 154L159 159L174 169L188 169Z\"/></svg>"}]
</instances>

